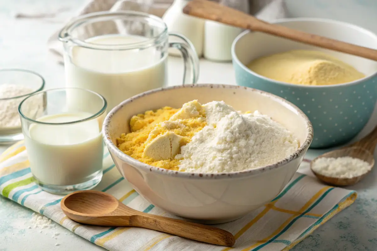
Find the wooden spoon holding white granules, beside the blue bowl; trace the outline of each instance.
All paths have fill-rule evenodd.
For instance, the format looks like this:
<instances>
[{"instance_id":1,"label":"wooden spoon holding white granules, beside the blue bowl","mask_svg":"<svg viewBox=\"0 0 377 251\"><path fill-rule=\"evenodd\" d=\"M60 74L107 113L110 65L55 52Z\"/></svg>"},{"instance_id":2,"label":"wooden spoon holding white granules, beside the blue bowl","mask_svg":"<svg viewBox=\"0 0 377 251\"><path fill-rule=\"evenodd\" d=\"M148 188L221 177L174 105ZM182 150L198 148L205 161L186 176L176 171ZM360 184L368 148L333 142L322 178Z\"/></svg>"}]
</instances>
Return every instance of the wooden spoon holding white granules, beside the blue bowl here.
<instances>
[{"instance_id":1,"label":"wooden spoon holding white granules, beside the blue bowl","mask_svg":"<svg viewBox=\"0 0 377 251\"><path fill-rule=\"evenodd\" d=\"M323 182L333 185L333 186L351 186L362 180L369 172L364 173L360 176L353 177L353 178L334 178L334 177L328 177L321 175L319 173L316 173L313 170L313 164L319 159L319 158L339 158L339 157L352 157L352 158L359 158L360 160L364 160L369 163L371 169L374 166L374 157L373 152L375 149L375 146L377 144L377 126L373 129L371 133L366 135L361 140L348 145L344 148L334 150L331 152L327 152L325 154L322 154L315 158L310 163L310 169L312 172L322 180Z\"/></svg>"}]
</instances>

